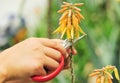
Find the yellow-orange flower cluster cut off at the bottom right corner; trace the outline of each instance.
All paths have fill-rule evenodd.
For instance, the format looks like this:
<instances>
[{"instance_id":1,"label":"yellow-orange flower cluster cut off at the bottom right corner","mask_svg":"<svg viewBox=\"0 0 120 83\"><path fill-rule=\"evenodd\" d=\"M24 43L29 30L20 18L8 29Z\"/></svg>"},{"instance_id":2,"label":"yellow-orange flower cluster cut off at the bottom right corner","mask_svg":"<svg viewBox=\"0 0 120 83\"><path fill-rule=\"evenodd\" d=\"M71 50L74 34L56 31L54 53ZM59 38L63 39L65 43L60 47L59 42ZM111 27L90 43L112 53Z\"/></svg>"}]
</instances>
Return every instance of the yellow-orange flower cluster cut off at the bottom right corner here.
<instances>
[{"instance_id":1,"label":"yellow-orange flower cluster cut off at the bottom right corner","mask_svg":"<svg viewBox=\"0 0 120 83\"><path fill-rule=\"evenodd\" d=\"M113 83L112 73L114 72L116 79L119 81L118 70L115 66L106 66L102 69L95 69L93 73L89 74L90 77L97 76L96 83Z\"/></svg>"}]
</instances>

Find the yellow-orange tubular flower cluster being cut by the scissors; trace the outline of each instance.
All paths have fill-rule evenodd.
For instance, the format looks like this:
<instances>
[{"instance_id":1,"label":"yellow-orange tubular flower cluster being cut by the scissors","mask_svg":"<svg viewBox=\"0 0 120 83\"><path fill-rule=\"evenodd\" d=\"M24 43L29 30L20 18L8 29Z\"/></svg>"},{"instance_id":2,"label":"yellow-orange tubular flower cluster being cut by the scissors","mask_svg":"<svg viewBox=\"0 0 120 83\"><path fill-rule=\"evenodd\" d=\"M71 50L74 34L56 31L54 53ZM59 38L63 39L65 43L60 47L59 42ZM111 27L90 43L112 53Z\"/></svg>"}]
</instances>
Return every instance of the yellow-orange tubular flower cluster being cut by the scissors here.
<instances>
[{"instance_id":1,"label":"yellow-orange tubular flower cluster being cut by the scissors","mask_svg":"<svg viewBox=\"0 0 120 83\"><path fill-rule=\"evenodd\" d=\"M59 19L59 27L53 33L60 33L61 37L66 34L68 40L78 38L80 34L86 33L81 29L79 23L84 17L80 13L81 9L76 6L82 6L83 3L71 4L63 2L58 13L62 14Z\"/></svg>"}]
</instances>

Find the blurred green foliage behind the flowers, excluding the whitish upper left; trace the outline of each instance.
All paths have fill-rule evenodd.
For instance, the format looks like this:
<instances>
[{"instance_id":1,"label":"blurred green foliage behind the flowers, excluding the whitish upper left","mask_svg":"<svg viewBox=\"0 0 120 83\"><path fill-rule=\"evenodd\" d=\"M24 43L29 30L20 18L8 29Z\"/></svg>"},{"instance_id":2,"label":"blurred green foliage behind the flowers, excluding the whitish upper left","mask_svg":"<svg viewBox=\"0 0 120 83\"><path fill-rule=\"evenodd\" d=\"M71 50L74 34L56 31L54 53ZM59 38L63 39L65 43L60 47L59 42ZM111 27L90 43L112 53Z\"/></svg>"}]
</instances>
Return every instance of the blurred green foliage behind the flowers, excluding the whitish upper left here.
<instances>
[{"instance_id":1,"label":"blurred green foliage behind the flowers, excluding the whitish upper left","mask_svg":"<svg viewBox=\"0 0 120 83\"><path fill-rule=\"evenodd\" d=\"M82 20L80 26L87 37L75 45L78 52L73 57L75 83L95 83L88 74L93 69L106 65L114 65L120 72L120 0L47 1L47 10L35 25L34 37L58 38L58 35L52 32L58 27L60 14L57 11L62 2L84 3L80 8L85 20ZM25 4L23 0L21 7ZM47 83L71 83L70 70L61 72ZM118 82L113 79L113 83Z\"/></svg>"}]
</instances>

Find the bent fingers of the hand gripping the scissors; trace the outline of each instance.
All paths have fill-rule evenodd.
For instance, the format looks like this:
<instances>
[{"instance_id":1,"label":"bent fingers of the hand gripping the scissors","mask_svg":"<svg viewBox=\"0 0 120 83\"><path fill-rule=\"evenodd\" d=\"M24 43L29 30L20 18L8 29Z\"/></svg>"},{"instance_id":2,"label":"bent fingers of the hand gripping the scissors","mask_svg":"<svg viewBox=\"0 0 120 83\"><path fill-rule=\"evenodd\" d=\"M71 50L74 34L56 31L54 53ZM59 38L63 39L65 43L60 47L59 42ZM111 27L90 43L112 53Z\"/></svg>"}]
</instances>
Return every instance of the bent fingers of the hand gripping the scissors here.
<instances>
[{"instance_id":1,"label":"bent fingers of the hand gripping the scissors","mask_svg":"<svg viewBox=\"0 0 120 83\"><path fill-rule=\"evenodd\" d=\"M45 68L49 71L55 70L59 63L57 61L60 61L61 55L64 55L65 57L65 66L64 68L69 68L70 60L67 59L69 57L69 54L72 53L77 54L77 51L72 48L68 49L66 52L66 49L60 44L62 40L59 39L47 39L47 38L38 38L39 41L45 46L42 50L44 51L47 58L45 58ZM47 72L48 73L48 72Z\"/></svg>"}]
</instances>

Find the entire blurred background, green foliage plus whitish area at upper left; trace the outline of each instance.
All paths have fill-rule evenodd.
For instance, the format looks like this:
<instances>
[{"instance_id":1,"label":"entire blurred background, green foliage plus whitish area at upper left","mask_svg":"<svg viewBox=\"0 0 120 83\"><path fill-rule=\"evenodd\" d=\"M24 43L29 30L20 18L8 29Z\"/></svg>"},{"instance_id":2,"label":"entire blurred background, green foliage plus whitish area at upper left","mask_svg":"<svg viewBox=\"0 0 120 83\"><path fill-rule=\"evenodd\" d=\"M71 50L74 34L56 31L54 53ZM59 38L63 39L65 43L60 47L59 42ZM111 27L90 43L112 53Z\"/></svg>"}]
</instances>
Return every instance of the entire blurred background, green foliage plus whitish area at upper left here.
<instances>
[{"instance_id":1,"label":"entire blurred background, green foliage plus whitish area at upper left","mask_svg":"<svg viewBox=\"0 0 120 83\"><path fill-rule=\"evenodd\" d=\"M80 26L87 37L75 45L75 83L95 83L88 74L106 65L120 72L120 0L0 0L0 50L29 37L58 38L52 32L63 1L84 3ZM70 70L47 83L71 83ZM118 83L115 78L113 83Z\"/></svg>"}]
</instances>

